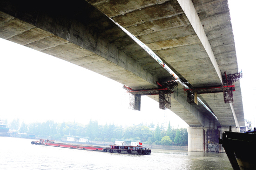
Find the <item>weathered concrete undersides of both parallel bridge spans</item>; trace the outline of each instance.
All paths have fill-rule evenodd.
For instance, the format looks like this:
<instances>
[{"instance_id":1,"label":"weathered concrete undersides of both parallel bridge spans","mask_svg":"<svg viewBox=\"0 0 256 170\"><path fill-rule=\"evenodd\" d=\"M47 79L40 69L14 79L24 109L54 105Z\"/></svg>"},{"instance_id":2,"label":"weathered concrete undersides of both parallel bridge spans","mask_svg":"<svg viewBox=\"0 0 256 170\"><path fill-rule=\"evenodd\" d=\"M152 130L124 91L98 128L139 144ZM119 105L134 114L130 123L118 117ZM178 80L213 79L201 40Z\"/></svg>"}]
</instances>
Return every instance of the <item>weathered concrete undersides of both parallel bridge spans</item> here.
<instances>
[{"instance_id":1,"label":"weathered concrete undersides of both parallel bridge spans","mask_svg":"<svg viewBox=\"0 0 256 170\"><path fill-rule=\"evenodd\" d=\"M156 81L168 80L169 73L110 17L194 87L221 85L221 72L238 72L227 0L87 1L38 5L1 0L0 38L64 59L133 89L154 88ZM234 113L239 125L244 125L239 81L235 85L233 105L224 104L222 93L199 95L218 118L216 126L236 126ZM181 85L171 97L171 110L190 127L209 127L211 114L201 104L187 103ZM195 150L202 151L202 145Z\"/></svg>"}]
</instances>

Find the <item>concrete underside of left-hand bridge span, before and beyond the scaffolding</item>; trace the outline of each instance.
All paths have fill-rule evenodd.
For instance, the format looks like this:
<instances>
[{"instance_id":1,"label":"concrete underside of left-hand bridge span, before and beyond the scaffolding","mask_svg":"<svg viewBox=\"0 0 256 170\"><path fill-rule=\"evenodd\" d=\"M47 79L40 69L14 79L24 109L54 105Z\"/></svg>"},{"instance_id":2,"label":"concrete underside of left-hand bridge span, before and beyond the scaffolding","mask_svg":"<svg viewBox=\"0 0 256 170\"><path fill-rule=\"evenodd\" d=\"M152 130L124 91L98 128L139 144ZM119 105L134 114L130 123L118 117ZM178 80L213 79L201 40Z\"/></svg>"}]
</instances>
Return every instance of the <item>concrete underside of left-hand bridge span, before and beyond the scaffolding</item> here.
<instances>
[{"instance_id":1,"label":"concrete underside of left-hand bridge span, before and beyond the scaffolding","mask_svg":"<svg viewBox=\"0 0 256 170\"><path fill-rule=\"evenodd\" d=\"M46 3L47 4L47 3ZM19 6L20 5L20 6ZM56 5L58 8L56 8ZM86 1L33 6L0 1L0 37L80 65L134 89L156 87L169 73L121 29ZM182 94L182 87L179 87ZM186 98L172 110L191 126L208 123L202 105ZM183 106L184 105L184 106ZM208 116L205 116L208 115Z\"/></svg>"}]
</instances>

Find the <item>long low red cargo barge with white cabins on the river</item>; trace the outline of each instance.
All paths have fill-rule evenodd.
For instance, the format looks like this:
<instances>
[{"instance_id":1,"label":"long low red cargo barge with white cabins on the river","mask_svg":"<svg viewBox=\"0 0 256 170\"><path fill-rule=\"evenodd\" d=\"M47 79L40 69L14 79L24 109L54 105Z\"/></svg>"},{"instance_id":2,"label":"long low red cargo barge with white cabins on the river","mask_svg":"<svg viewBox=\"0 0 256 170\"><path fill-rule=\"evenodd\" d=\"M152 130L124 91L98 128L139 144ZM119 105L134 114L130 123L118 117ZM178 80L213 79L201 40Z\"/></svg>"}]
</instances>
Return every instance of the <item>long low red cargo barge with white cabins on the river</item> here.
<instances>
[{"instance_id":1,"label":"long low red cargo barge with white cabins on the river","mask_svg":"<svg viewBox=\"0 0 256 170\"><path fill-rule=\"evenodd\" d=\"M44 146L53 146L53 147L61 147L61 148L69 148L69 149L78 149L78 150L92 150L92 151L101 151L101 152L109 152L109 153L119 153L119 154L132 154L132 155L149 155L151 154L151 150L142 146L140 142L131 142L131 146L118 144L121 141L115 141L114 145L109 145L109 147L101 147L101 146L85 146L85 145L77 145L77 144L63 144L63 143L55 143L54 140L49 139L40 139L39 141L32 141L31 144L36 145L44 145Z\"/></svg>"}]
</instances>

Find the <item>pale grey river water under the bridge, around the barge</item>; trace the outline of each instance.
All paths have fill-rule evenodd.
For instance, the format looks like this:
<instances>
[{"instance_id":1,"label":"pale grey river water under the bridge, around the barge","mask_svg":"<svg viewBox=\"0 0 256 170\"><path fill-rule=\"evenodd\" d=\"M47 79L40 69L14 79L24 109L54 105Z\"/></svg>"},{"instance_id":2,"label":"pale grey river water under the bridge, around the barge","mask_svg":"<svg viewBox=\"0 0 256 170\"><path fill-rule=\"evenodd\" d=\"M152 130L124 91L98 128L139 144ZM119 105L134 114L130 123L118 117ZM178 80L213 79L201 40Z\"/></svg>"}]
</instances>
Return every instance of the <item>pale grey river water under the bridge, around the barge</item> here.
<instances>
[{"instance_id":1,"label":"pale grey river water under the bridge, around the barge","mask_svg":"<svg viewBox=\"0 0 256 170\"><path fill-rule=\"evenodd\" d=\"M233 170L224 153L152 149L126 155L34 145L0 137L0 170Z\"/></svg>"}]
</instances>

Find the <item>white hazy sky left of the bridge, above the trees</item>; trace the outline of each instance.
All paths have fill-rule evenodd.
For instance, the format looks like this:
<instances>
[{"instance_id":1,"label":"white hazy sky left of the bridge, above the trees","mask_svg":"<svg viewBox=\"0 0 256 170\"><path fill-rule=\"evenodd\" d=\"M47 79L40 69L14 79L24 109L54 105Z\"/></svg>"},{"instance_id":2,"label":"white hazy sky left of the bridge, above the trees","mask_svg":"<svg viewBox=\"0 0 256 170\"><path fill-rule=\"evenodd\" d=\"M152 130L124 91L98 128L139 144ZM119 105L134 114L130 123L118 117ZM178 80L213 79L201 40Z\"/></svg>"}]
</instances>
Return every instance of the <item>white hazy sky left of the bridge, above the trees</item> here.
<instances>
[{"instance_id":1,"label":"white hazy sky left of the bridge, above the trees","mask_svg":"<svg viewBox=\"0 0 256 170\"><path fill-rule=\"evenodd\" d=\"M142 97L141 111L129 110L129 95L114 80L4 39L0 46L0 118L127 125L164 121L165 111L148 97ZM188 126L171 111L166 115L172 126Z\"/></svg>"}]
</instances>

